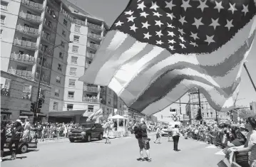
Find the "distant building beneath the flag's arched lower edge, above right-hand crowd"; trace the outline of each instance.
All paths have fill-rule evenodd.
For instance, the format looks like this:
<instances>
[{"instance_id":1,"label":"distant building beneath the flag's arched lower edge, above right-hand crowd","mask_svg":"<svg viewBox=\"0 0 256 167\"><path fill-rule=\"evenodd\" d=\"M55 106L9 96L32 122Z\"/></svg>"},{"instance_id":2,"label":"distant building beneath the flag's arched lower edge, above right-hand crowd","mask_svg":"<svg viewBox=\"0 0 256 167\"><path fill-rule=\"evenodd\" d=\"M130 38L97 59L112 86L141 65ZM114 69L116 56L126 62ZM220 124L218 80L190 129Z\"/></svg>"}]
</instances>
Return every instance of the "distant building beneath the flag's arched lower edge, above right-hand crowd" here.
<instances>
[{"instance_id":1,"label":"distant building beneath the flag's arched lower edge, above right-hand crowd","mask_svg":"<svg viewBox=\"0 0 256 167\"><path fill-rule=\"evenodd\" d=\"M198 90L192 89L190 92L188 92L189 101L186 104L186 112L189 115L190 119L193 121L195 120L195 117L198 114L199 109L199 99L198 99ZM201 113L203 120L216 120L216 111L212 107L210 107L210 104L208 103L205 96L200 93L200 104L201 104ZM218 120L230 120L230 112L217 112L217 118Z\"/></svg>"}]
</instances>

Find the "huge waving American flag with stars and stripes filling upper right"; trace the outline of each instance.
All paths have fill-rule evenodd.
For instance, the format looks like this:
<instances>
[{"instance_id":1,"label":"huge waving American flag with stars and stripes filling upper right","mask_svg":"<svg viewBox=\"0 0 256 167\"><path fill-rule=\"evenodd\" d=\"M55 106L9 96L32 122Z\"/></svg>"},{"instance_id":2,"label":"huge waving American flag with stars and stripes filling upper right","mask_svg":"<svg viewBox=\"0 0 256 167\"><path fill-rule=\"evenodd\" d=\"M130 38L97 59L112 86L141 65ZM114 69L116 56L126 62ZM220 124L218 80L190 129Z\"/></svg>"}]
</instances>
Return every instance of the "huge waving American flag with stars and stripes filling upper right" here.
<instances>
[{"instance_id":1,"label":"huge waving American flag with stars and stripes filling upper right","mask_svg":"<svg viewBox=\"0 0 256 167\"><path fill-rule=\"evenodd\" d=\"M143 114L192 87L225 111L238 94L255 11L253 0L130 0L80 80L110 87Z\"/></svg>"}]
</instances>

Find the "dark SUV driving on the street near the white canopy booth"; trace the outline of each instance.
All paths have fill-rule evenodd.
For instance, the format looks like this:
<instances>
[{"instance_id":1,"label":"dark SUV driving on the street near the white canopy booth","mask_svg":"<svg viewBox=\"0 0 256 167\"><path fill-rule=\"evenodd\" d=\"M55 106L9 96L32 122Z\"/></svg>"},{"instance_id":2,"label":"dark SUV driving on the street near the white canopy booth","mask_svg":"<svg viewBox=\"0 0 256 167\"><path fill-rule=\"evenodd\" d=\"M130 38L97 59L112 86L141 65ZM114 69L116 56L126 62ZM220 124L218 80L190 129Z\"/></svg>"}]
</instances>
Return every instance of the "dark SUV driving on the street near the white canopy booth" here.
<instances>
[{"instance_id":1,"label":"dark SUV driving on the street near the white canopy booth","mask_svg":"<svg viewBox=\"0 0 256 167\"><path fill-rule=\"evenodd\" d=\"M103 138L103 127L101 124L88 123L81 124L78 128L71 130L68 135L69 141L73 142L76 140L81 141L91 141L91 139L99 139Z\"/></svg>"}]
</instances>

